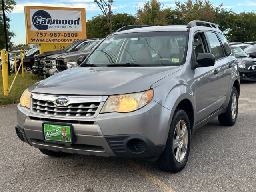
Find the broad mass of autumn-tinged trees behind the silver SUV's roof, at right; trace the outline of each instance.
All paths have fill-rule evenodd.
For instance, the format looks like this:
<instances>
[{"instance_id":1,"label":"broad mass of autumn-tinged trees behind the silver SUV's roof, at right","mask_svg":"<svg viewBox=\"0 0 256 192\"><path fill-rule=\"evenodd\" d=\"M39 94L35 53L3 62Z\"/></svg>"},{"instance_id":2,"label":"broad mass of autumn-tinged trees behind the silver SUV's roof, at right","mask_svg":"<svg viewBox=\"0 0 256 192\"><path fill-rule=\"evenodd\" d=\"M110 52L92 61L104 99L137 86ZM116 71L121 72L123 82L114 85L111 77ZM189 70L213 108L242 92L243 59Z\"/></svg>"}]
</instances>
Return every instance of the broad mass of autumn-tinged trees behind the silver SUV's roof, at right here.
<instances>
[{"instance_id":1,"label":"broad mass of autumn-tinged trees behind the silver SUV's roof, at right","mask_svg":"<svg viewBox=\"0 0 256 192\"><path fill-rule=\"evenodd\" d=\"M160 0L146 0L137 10L137 24L176 25L188 24L192 20L213 22L224 32L230 42L256 40L256 12L235 13L222 4L214 6L210 0L175 1L176 8L163 8ZM182 16L186 14L185 20ZM174 20L174 15L178 16Z\"/></svg>"}]
</instances>

